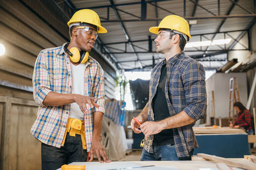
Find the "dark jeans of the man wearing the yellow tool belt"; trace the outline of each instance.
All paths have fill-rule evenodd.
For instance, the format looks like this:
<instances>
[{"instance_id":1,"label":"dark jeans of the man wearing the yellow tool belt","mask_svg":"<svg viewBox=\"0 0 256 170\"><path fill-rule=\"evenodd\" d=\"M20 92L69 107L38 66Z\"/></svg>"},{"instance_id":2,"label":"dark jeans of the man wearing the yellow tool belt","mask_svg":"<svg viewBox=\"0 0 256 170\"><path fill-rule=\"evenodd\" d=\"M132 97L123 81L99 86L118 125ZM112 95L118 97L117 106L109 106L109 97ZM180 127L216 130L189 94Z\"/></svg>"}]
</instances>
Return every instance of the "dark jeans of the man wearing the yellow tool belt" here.
<instances>
[{"instance_id":1,"label":"dark jeans of the man wearing the yellow tool belt","mask_svg":"<svg viewBox=\"0 0 256 170\"><path fill-rule=\"evenodd\" d=\"M63 164L72 162L86 162L87 152L83 150L81 136L69 136L65 140L65 145L61 148L54 146L41 145L42 170L56 170Z\"/></svg>"}]
</instances>

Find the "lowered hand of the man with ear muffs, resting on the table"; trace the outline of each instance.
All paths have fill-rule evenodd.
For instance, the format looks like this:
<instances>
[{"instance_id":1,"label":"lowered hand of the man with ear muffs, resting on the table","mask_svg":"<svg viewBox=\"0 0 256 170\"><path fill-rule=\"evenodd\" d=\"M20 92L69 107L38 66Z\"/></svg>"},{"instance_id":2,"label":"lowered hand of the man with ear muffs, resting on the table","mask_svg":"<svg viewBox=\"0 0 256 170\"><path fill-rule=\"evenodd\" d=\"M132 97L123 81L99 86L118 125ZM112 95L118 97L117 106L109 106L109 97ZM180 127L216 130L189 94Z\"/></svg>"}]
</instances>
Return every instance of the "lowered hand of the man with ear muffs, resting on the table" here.
<instances>
[{"instance_id":1,"label":"lowered hand of the man with ear muffs, resting on the table","mask_svg":"<svg viewBox=\"0 0 256 170\"><path fill-rule=\"evenodd\" d=\"M96 153L98 160L100 163L106 162L109 163L111 160L108 159L108 155L105 151L105 148L102 146L101 142L99 139L92 138L92 148L90 152L90 160L91 162L93 160L93 154ZM103 160L101 159L103 158Z\"/></svg>"}]
</instances>

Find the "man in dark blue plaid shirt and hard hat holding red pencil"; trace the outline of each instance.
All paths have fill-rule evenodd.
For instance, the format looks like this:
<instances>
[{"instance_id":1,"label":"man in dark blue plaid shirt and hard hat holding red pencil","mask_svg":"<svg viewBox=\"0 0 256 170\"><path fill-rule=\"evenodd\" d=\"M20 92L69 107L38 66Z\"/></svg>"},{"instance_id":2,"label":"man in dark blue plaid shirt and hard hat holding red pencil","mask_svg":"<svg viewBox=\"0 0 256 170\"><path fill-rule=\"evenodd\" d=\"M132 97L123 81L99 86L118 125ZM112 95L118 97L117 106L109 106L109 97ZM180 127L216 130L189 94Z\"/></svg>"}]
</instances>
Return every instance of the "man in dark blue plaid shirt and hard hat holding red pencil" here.
<instances>
[{"instance_id":1,"label":"man in dark blue plaid shirt and hard hat holding red pencil","mask_svg":"<svg viewBox=\"0 0 256 170\"><path fill-rule=\"evenodd\" d=\"M152 70L148 103L136 117L141 126L131 122L145 134L141 160L191 160L198 147L192 127L206 111L204 67L183 52L191 38L184 18L169 15L149 31L165 59Z\"/></svg>"}]
</instances>

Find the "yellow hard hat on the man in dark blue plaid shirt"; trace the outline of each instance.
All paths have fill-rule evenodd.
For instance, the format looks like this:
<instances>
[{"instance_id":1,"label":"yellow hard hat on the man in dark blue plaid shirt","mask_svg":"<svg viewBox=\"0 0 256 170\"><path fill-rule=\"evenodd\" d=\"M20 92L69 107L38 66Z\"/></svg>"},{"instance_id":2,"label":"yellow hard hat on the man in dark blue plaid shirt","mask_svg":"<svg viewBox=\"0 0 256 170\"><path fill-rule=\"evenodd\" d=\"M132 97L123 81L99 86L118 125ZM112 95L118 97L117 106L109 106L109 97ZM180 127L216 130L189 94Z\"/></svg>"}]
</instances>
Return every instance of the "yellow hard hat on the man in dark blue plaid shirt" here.
<instances>
[{"instance_id":1,"label":"yellow hard hat on the man in dark blue plaid shirt","mask_svg":"<svg viewBox=\"0 0 256 170\"><path fill-rule=\"evenodd\" d=\"M172 29L175 31L179 31L191 38L191 35L189 33L189 24L188 22L178 16L178 15L168 15L161 20L160 24L158 27L150 27L149 31L152 32L153 34L157 34L159 29Z\"/></svg>"}]
</instances>

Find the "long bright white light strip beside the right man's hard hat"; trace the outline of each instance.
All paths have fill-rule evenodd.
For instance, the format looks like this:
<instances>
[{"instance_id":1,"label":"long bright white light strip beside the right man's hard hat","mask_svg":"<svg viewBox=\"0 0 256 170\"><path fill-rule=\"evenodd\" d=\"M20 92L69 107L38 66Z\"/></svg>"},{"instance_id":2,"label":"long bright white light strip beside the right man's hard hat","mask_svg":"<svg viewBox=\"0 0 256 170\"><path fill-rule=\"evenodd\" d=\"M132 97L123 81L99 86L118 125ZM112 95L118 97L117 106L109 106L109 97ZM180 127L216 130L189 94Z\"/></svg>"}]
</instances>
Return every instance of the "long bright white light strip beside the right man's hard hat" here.
<instances>
[{"instance_id":1,"label":"long bright white light strip beside the right man's hard hat","mask_svg":"<svg viewBox=\"0 0 256 170\"><path fill-rule=\"evenodd\" d=\"M187 43L185 48L193 48L198 46L224 45L230 43L231 39L214 39L213 41L195 41Z\"/></svg>"}]
</instances>

